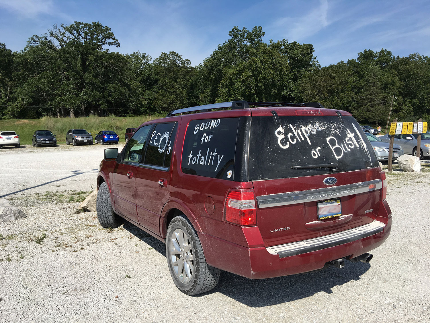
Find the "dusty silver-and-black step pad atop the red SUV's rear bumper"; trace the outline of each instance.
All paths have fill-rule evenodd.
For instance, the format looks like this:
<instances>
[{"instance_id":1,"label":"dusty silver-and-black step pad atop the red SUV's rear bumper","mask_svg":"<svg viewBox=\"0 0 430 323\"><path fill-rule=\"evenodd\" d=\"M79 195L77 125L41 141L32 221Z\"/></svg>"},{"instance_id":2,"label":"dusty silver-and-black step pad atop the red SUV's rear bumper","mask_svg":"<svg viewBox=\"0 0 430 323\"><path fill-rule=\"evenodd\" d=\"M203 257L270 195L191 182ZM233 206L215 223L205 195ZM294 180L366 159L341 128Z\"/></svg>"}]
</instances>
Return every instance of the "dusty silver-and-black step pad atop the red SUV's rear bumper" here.
<instances>
[{"instance_id":1,"label":"dusty silver-and-black step pad atop the red SUV's rear bumper","mask_svg":"<svg viewBox=\"0 0 430 323\"><path fill-rule=\"evenodd\" d=\"M272 255L279 255L279 258L301 255L307 252L330 248L336 245L343 245L344 243L372 236L375 233L382 232L384 227L385 224L375 220L372 223L362 225L361 227L313 239L290 242L284 245L275 245L273 247L266 248L266 250Z\"/></svg>"}]
</instances>

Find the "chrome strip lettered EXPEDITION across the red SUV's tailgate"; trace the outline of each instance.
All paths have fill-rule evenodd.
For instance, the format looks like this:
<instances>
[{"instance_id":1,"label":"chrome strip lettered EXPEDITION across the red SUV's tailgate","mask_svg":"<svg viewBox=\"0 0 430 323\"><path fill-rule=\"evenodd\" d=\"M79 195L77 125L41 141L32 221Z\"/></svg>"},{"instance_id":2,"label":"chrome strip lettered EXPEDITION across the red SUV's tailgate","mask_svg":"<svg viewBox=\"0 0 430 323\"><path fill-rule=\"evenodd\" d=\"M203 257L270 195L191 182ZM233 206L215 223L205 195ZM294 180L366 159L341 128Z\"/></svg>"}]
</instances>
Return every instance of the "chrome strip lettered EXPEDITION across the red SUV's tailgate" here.
<instances>
[{"instance_id":1,"label":"chrome strip lettered EXPEDITION across the red SUV's tailgate","mask_svg":"<svg viewBox=\"0 0 430 323\"><path fill-rule=\"evenodd\" d=\"M333 197L366 193L381 188L381 180L369 180L367 182L327 187L322 189L309 189L307 191L261 195L257 196L257 205L258 208L271 208L274 206L320 201Z\"/></svg>"}]
</instances>

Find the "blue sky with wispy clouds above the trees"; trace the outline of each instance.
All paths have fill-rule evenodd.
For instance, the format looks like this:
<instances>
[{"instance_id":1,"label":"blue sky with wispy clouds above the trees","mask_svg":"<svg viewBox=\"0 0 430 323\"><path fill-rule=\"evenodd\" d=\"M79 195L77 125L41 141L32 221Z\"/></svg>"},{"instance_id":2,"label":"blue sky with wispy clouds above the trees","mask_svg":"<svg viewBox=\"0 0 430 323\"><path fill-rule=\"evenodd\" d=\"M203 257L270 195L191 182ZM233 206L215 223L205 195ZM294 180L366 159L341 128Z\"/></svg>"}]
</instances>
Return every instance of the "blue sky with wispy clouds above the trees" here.
<instances>
[{"instance_id":1,"label":"blue sky with wispy clouds above the trees","mask_svg":"<svg viewBox=\"0 0 430 323\"><path fill-rule=\"evenodd\" d=\"M227 40L233 26L255 25L264 41L311 43L322 66L356 58L364 49L395 56L430 56L430 1L145 1L0 0L0 43L16 51L52 25L100 22L121 53L157 58L175 51L198 65Z\"/></svg>"}]
</instances>

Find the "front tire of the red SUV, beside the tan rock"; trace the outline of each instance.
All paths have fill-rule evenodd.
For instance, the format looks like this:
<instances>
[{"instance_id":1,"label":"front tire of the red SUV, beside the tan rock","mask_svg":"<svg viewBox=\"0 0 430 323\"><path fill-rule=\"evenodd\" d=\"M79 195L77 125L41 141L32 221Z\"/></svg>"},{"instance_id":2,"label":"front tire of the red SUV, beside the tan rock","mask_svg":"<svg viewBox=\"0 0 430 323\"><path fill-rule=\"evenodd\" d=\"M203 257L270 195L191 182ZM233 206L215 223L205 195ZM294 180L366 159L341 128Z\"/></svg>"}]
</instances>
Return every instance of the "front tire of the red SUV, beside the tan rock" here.
<instances>
[{"instance_id":1,"label":"front tire of the red SUV, beside the tan rock","mask_svg":"<svg viewBox=\"0 0 430 323\"><path fill-rule=\"evenodd\" d=\"M104 228L116 228L124 223L124 219L115 214L109 196L109 189L106 183L101 183L97 192L97 218L100 225Z\"/></svg>"}]
</instances>

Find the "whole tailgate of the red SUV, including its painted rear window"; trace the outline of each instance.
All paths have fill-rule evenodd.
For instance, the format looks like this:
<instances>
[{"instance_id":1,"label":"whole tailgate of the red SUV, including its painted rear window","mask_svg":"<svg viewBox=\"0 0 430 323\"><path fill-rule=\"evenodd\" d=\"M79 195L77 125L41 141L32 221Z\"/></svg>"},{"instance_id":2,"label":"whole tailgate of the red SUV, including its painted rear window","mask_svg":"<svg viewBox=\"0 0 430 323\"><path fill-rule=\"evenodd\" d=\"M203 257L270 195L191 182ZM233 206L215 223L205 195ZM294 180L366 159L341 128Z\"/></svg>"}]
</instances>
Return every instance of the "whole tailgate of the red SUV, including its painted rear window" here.
<instances>
[{"instance_id":1,"label":"whole tailgate of the red SUV, including its painted rear window","mask_svg":"<svg viewBox=\"0 0 430 323\"><path fill-rule=\"evenodd\" d=\"M249 177L265 244L372 222L382 182L372 146L355 119L335 111L277 112L280 123L254 113L251 122Z\"/></svg>"}]
</instances>

